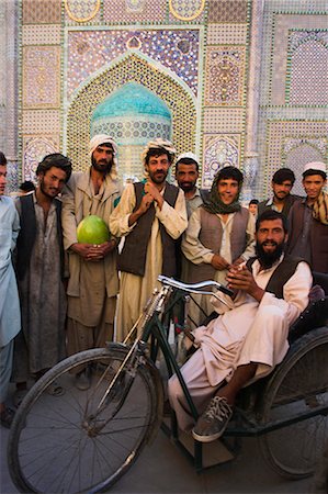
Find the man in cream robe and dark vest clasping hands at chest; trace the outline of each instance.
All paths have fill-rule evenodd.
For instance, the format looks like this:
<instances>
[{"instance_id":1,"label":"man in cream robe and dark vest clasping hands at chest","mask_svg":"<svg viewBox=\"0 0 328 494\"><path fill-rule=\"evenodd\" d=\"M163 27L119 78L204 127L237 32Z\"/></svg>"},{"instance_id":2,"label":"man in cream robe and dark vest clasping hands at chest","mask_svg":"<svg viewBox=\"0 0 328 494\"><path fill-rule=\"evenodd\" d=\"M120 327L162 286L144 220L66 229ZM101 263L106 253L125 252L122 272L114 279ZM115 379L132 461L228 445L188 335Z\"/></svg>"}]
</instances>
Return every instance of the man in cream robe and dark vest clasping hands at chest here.
<instances>
[{"instance_id":1,"label":"man in cream robe and dark vest clasping hands at chest","mask_svg":"<svg viewBox=\"0 0 328 494\"><path fill-rule=\"evenodd\" d=\"M111 232L125 237L118 258L120 341L159 285L157 277L176 276L176 242L186 228L188 220L183 191L167 181L174 154L168 141L157 138L148 143L143 153L146 183L128 183L110 218Z\"/></svg>"}]
</instances>

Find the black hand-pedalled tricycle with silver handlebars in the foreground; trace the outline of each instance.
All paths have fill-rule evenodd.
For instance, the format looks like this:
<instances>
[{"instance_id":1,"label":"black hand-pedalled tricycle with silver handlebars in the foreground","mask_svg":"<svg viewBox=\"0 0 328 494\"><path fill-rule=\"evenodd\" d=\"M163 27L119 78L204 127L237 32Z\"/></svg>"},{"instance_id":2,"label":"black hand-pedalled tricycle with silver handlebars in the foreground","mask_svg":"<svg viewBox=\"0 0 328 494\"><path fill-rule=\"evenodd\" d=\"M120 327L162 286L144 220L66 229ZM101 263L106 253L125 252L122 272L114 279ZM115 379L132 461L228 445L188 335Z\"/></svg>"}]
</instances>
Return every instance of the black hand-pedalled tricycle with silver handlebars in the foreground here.
<instances>
[{"instance_id":1,"label":"black hand-pedalled tricycle with silver handlebars in the foreground","mask_svg":"<svg viewBox=\"0 0 328 494\"><path fill-rule=\"evenodd\" d=\"M163 384L156 367L159 349L169 374L177 373L190 411L197 418L168 334L172 318L183 326L184 315L177 313L176 307L183 307L181 301L190 293L213 294L211 289L229 291L216 282L186 285L165 277L159 279L161 289L154 292L126 337L125 343L138 333L131 346L109 344L104 349L69 357L37 381L23 400L11 428L8 450L10 473L21 492L49 492L49 485L52 492L104 492L124 475L162 424ZM327 327L302 336L296 344L269 381L262 380L264 391L256 394L258 403L250 400L251 405L237 408L224 438L260 436L273 468L299 478L312 473L314 468L308 441L299 439L309 458L295 470L294 463L292 468L286 464L290 459L281 460L281 436L278 442L274 436L280 430L286 434L292 429L294 434L294 425L298 423L306 430L308 425L319 428L318 419L323 419L321 442L328 437L328 371L318 372L328 350ZM303 375L304 389L297 386L296 392L291 384L298 381L304 358L307 364L317 367L314 374ZM92 370L92 385L88 391L79 391L73 384L72 371L80 366ZM66 390L60 397L47 393L54 381ZM255 388L249 388L246 395L251 397ZM301 406L299 401L307 405ZM179 441L174 416L172 435ZM303 454L301 444L296 453ZM293 459L297 461L299 458ZM202 445L197 441L195 465L202 468Z\"/></svg>"}]
</instances>

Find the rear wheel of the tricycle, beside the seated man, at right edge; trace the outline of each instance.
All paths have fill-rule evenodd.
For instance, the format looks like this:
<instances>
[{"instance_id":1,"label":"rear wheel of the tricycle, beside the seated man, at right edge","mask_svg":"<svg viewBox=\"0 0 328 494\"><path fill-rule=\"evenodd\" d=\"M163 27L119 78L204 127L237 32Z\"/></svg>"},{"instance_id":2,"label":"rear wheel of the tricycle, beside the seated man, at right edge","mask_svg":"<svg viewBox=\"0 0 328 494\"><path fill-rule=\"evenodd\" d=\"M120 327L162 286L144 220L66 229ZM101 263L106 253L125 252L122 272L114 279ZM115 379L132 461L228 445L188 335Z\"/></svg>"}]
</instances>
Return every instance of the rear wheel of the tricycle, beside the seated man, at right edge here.
<instances>
[{"instance_id":1,"label":"rear wheel of the tricycle, beside the seated man, at right edge","mask_svg":"<svg viewBox=\"0 0 328 494\"><path fill-rule=\"evenodd\" d=\"M299 338L272 375L263 392L261 422L291 420L287 426L260 436L269 465L287 479L314 473L328 440L328 328ZM301 415L314 414L305 419ZM316 415L317 414L317 415Z\"/></svg>"}]
</instances>

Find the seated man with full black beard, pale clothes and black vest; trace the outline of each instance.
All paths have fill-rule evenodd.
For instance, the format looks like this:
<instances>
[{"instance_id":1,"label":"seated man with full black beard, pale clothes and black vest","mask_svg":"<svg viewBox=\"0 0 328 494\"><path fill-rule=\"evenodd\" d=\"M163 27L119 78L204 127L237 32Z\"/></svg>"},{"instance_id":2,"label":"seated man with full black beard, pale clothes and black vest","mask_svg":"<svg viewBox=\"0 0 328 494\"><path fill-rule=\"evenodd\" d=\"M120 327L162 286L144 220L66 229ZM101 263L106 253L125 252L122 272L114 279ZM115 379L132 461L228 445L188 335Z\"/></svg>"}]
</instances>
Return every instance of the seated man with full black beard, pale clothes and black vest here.
<instances>
[{"instance_id":1,"label":"seated man with full black beard, pale clothes and black vest","mask_svg":"<svg viewBox=\"0 0 328 494\"><path fill-rule=\"evenodd\" d=\"M220 437L239 390L270 373L284 358L289 327L308 304L312 273L302 259L285 257L285 217L268 210L257 220L257 257L230 268L233 297L213 299L220 314L194 332L197 351L181 371L201 414L193 424L177 375L169 397L181 429L202 442ZM208 404L210 401L210 404Z\"/></svg>"}]
</instances>

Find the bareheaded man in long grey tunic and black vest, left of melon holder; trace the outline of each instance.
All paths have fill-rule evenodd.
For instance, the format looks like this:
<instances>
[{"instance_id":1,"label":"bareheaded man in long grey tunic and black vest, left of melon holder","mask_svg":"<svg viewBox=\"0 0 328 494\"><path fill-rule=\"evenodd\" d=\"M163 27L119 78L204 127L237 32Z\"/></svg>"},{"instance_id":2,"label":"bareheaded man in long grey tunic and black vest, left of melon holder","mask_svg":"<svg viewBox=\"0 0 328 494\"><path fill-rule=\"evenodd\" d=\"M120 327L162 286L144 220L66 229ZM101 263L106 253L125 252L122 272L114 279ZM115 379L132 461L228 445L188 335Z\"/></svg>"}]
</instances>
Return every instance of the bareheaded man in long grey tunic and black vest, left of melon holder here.
<instances>
[{"instance_id":1,"label":"bareheaded man in long grey tunic and black vest, left of melon holder","mask_svg":"<svg viewBox=\"0 0 328 494\"><path fill-rule=\"evenodd\" d=\"M71 175L71 162L59 153L37 166L35 192L16 200L21 231L16 245L16 273L22 332L14 341L12 380L14 403L26 394L26 383L38 379L65 357L66 295L61 202L57 195ZM53 386L60 394L60 386Z\"/></svg>"}]
</instances>

